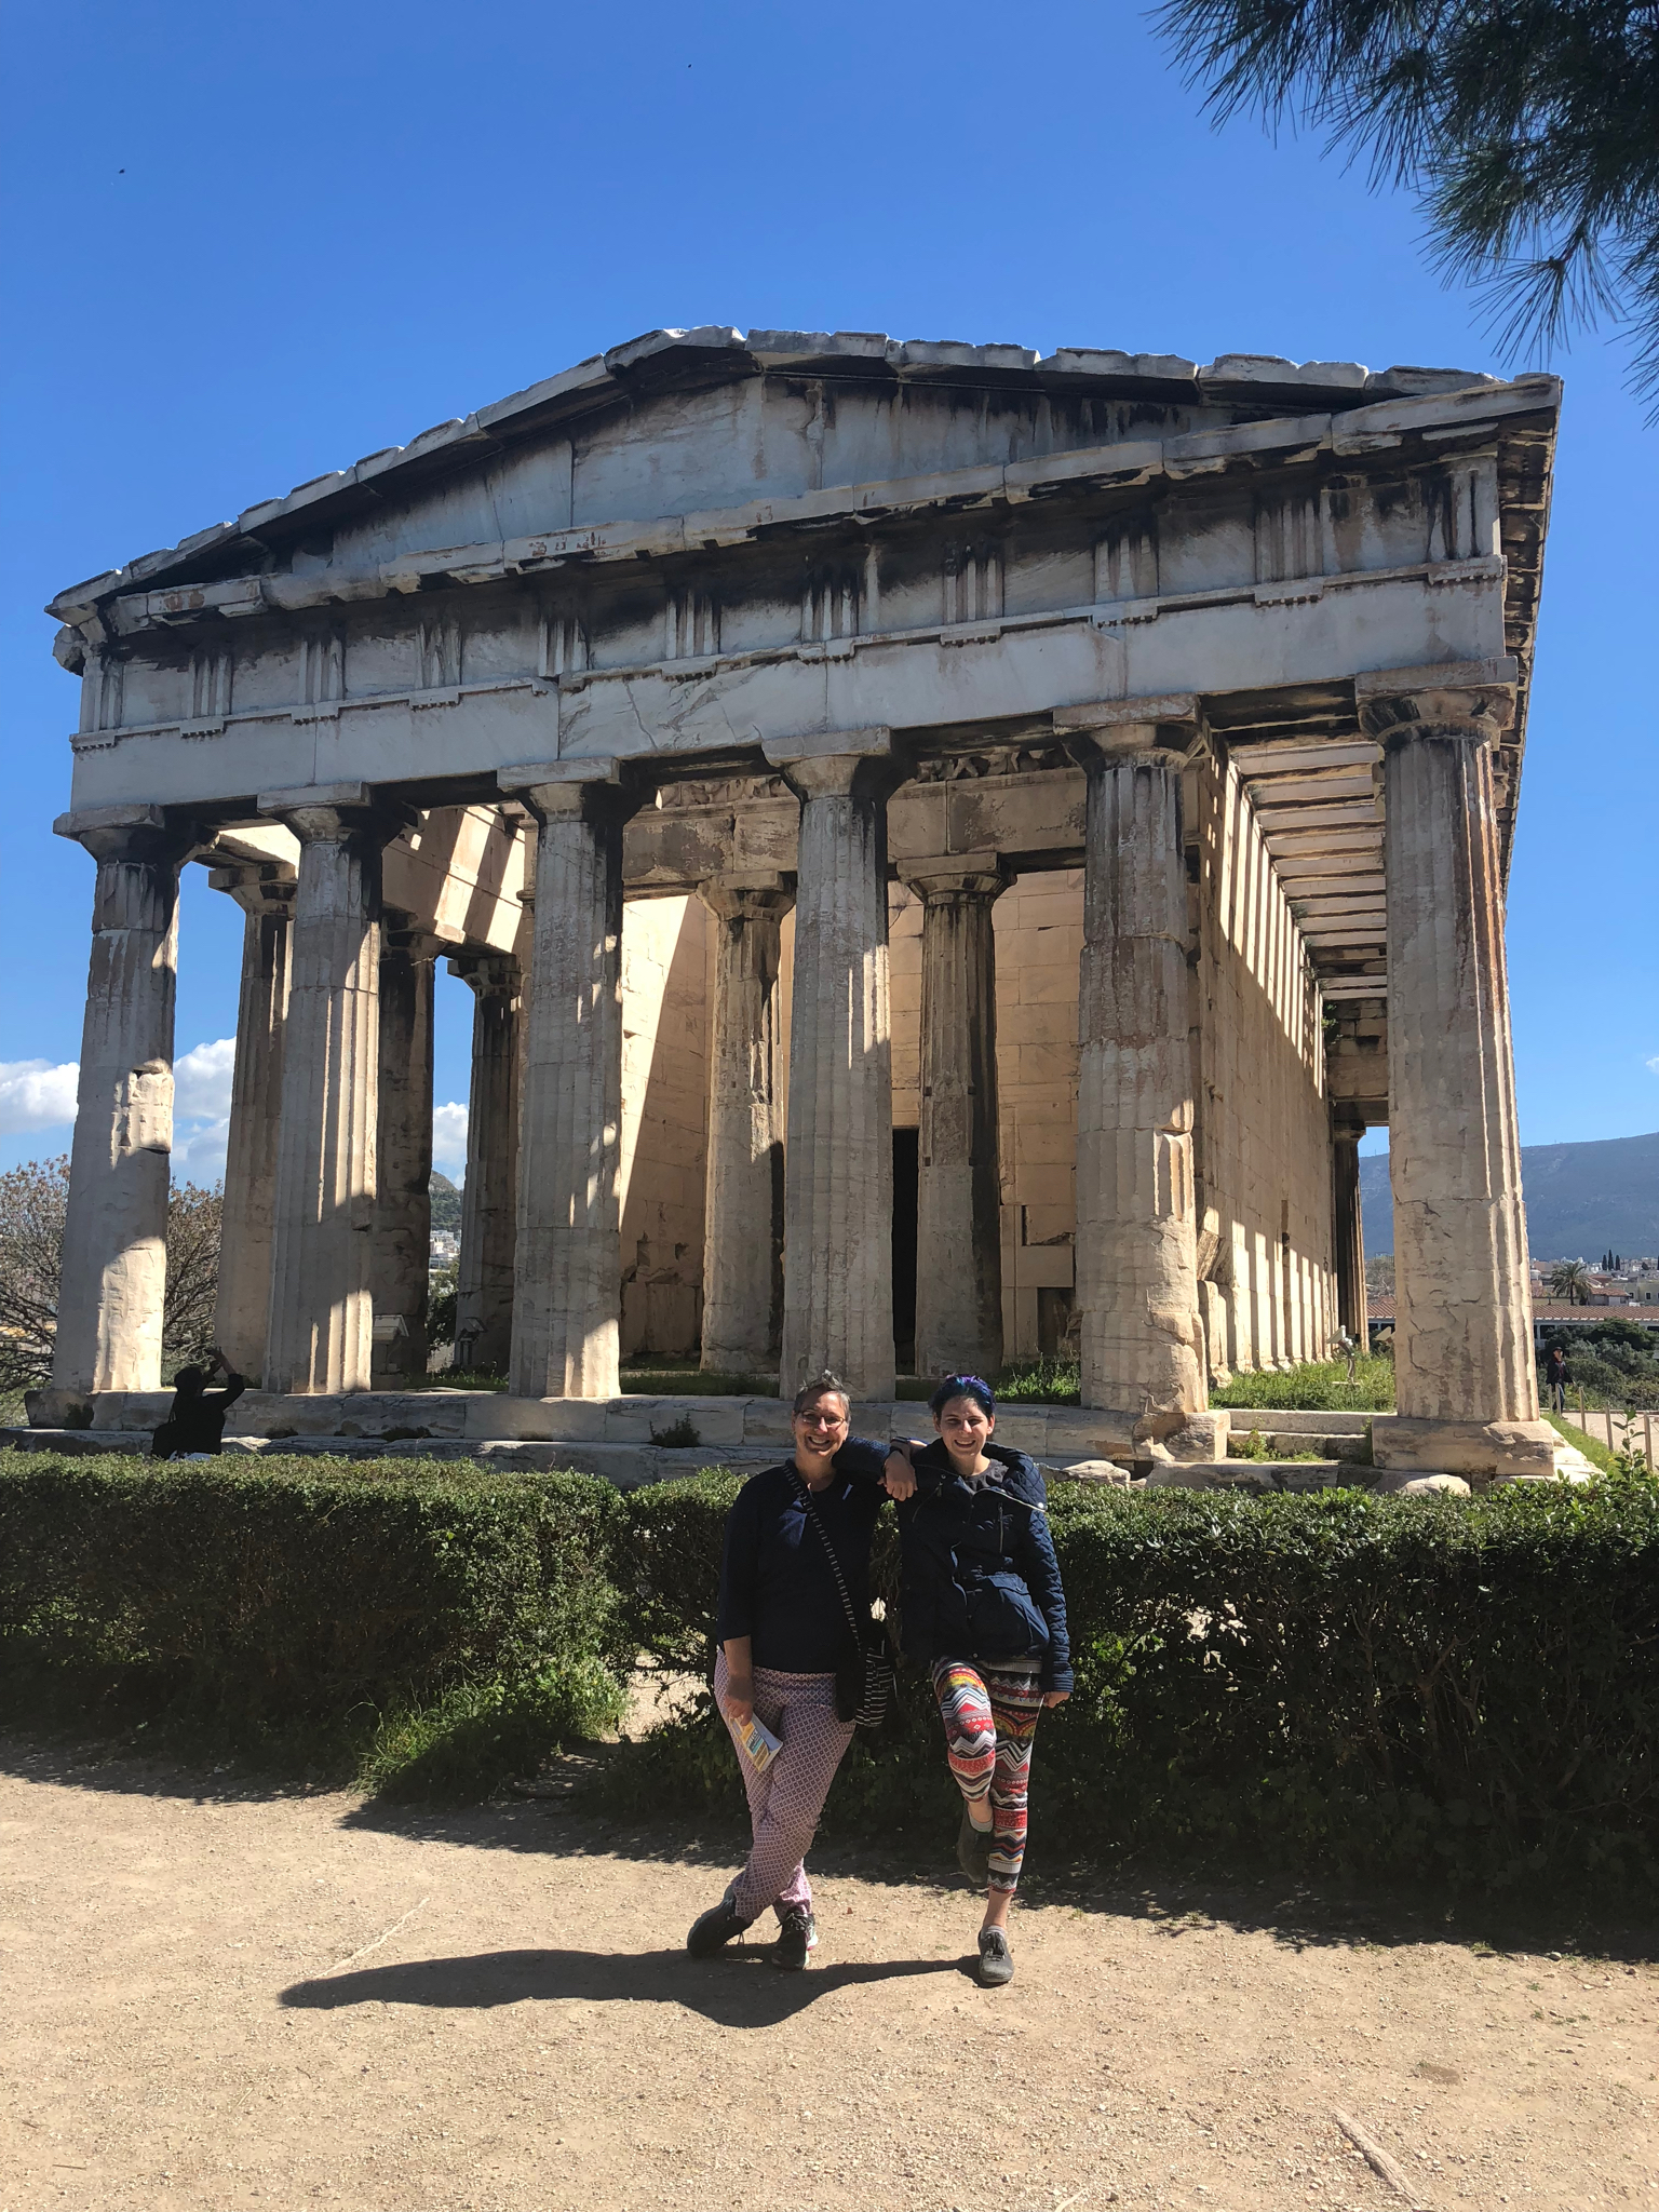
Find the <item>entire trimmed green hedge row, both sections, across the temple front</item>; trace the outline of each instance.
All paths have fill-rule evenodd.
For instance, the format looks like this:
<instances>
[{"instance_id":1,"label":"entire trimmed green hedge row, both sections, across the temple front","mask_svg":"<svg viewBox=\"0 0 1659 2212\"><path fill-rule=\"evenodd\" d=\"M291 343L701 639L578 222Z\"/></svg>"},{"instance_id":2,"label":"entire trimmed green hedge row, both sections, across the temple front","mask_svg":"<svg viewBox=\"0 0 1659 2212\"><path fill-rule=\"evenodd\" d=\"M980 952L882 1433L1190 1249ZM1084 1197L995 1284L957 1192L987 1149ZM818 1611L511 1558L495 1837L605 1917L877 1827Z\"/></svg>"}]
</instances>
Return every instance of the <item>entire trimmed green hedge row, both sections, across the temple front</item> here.
<instances>
[{"instance_id":1,"label":"entire trimmed green hedge row, both sections, across the temple front","mask_svg":"<svg viewBox=\"0 0 1659 2212\"><path fill-rule=\"evenodd\" d=\"M0 1453L4 1708L325 1743L380 1787L476 1794L613 1725L639 1652L708 1679L737 1482L619 1498L469 1462ZM1040 1730L1040 1856L1659 1882L1659 1482L1473 1502L1057 1484L1053 1524L1077 1692ZM891 1515L874 1566L896 1617ZM931 1699L900 1683L830 1829L949 1832ZM606 1787L739 1803L708 1697Z\"/></svg>"}]
</instances>

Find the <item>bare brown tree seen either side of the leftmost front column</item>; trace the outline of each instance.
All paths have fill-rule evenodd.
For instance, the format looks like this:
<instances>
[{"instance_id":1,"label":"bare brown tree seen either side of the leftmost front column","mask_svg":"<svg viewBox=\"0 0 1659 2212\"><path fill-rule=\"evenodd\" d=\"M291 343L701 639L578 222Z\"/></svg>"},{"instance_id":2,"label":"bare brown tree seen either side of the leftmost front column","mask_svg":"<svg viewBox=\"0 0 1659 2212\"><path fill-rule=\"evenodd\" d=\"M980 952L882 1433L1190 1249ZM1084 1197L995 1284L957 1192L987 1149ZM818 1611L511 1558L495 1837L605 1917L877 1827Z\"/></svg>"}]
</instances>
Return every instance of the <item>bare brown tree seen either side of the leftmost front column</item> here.
<instances>
[{"instance_id":1,"label":"bare brown tree seen either side of the leftmost front column","mask_svg":"<svg viewBox=\"0 0 1659 2212\"><path fill-rule=\"evenodd\" d=\"M66 1212L69 1155L31 1159L0 1175L0 1389L33 1389L51 1378ZM212 1347L221 1221L223 1194L217 1188L173 1186L164 1374L201 1360Z\"/></svg>"}]
</instances>

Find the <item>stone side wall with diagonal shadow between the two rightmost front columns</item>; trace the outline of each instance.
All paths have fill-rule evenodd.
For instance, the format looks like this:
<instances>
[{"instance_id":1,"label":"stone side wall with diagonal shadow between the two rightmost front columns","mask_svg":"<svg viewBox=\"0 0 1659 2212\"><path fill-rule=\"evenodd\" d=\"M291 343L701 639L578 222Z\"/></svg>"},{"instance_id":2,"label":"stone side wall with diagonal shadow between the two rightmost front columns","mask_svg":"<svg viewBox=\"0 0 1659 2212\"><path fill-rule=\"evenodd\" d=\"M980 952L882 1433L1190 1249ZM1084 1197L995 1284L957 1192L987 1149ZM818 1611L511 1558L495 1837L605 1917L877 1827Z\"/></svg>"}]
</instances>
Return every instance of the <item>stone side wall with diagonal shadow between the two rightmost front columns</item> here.
<instances>
[{"instance_id":1,"label":"stone side wall with diagonal shadow between the two rightmost front columns","mask_svg":"<svg viewBox=\"0 0 1659 2212\"><path fill-rule=\"evenodd\" d=\"M1323 1358L1336 1325L1323 1000L1237 768L1186 779L1199 929L1199 1274L1210 1374Z\"/></svg>"}]
</instances>

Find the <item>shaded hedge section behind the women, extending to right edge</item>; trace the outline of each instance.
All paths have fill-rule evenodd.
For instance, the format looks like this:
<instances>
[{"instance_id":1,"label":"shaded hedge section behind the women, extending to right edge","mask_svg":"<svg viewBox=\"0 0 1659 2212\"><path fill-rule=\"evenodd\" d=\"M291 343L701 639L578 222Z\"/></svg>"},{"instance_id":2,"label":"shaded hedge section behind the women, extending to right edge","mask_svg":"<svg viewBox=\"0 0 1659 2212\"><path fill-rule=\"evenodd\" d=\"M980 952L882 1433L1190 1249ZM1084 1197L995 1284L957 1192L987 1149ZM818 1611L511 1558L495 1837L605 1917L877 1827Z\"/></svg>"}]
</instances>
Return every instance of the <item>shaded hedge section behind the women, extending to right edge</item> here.
<instances>
[{"instance_id":1,"label":"shaded hedge section behind the women, extending to right edge","mask_svg":"<svg viewBox=\"0 0 1659 2212\"><path fill-rule=\"evenodd\" d=\"M628 1500L641 1648L703 1666L730 1475ZM1044 1717L1033 1836L1438 1882L1659 1874L1659 1484L1473 1502L1055 1486L1077 1692ZM894 1586L891 1517L876 1579ZM953 1814L925 1683L860 1736L830 1832ZM637 1747L635 1803L734 1803L714 1717Z\"/></svg>"}]
</instances>

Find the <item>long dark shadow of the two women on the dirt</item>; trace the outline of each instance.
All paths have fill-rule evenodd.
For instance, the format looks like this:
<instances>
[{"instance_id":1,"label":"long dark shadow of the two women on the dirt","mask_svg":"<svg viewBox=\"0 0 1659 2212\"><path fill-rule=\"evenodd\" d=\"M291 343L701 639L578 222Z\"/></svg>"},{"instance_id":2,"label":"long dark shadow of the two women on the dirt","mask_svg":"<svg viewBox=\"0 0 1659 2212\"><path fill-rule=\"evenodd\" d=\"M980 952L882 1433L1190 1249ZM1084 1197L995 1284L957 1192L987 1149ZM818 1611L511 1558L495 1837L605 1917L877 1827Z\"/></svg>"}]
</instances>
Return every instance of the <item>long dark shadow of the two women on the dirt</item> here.
<instances>
[{"instance_id":1,"label":"long dark shadow of the two women on the dirt","mask_svg":"<svg viewBox=\"0 0 1659 2212\"><path fill-rule=\"evenodd\" d=\"M480 1951L476 1958L416 1958L403 1966L294 1982L281 2002L292 2011L332 2013L347 2004L684 2004L723 2028L770 2028L816 1997L858 1982L891 1982L914 1973L971 1973L962 1958L876 1960L867 1966L823 1966L779 1973L763 1947L737 1947L714 1960L684 1951Z\"/></svg>"}]
</instances>

